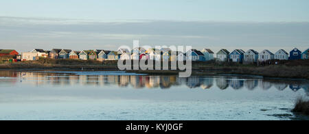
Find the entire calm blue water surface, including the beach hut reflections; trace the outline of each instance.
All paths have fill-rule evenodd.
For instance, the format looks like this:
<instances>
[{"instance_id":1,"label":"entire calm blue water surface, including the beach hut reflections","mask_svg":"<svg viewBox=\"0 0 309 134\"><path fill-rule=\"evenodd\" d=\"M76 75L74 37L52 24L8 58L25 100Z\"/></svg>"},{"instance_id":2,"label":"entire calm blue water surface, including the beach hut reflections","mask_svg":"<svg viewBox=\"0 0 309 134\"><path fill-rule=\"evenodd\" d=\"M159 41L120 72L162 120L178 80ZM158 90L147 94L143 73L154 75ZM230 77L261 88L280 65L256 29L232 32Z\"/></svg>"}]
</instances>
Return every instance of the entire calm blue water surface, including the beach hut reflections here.
<instances>
[{"instance_id":1,"label":"entire calm blue water surface, including the beach hut reflections","mask_svg":"<svg viewBox=\"0 0 309 134\"><path fill-rule=\"evenodd\" d=\"M0 71L0 120L307 120L305 80Z\"/></svg>"}]
</instances>

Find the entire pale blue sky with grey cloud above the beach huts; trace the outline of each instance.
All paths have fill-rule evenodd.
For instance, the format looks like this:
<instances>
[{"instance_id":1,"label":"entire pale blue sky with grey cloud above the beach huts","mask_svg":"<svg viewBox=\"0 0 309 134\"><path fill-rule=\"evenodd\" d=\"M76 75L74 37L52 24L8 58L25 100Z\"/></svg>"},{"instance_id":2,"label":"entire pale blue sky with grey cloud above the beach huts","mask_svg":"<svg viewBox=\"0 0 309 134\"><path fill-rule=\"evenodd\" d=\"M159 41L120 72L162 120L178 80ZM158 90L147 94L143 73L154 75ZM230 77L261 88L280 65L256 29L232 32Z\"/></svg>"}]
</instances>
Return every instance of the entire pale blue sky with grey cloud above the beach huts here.
<instances>
[{"instance_id":1,"label":"entire pale blue sky with grey cloud above the beach huts","mask_svg":"<svg viewBox=\"0 0 309 134\"><path fill-rule=\"evenodd\" d=\"M0 49L309 48L308 0L0 0Z\"/></svg>"}]
</instances>

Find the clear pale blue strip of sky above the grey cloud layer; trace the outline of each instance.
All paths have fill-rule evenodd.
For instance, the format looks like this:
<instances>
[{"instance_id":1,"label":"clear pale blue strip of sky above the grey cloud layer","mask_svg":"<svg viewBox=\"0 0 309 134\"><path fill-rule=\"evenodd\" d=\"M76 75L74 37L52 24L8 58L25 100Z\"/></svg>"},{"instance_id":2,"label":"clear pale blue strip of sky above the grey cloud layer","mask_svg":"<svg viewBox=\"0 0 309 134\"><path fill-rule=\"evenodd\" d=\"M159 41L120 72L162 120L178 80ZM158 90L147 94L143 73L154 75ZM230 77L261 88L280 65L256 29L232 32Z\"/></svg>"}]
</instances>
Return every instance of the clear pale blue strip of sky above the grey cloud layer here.
<instances>
[{"instance_id":1,"label":"clear pale blue strip of sky above the grey cloud layer","mask_svg":"<svg viewBox=\"0 0 309 134\"><path fill-rule=\"evenodd\" d=\"M172 21L309 21L308 0L1 0L0 16Z\"/></svg>"}]
</instances>

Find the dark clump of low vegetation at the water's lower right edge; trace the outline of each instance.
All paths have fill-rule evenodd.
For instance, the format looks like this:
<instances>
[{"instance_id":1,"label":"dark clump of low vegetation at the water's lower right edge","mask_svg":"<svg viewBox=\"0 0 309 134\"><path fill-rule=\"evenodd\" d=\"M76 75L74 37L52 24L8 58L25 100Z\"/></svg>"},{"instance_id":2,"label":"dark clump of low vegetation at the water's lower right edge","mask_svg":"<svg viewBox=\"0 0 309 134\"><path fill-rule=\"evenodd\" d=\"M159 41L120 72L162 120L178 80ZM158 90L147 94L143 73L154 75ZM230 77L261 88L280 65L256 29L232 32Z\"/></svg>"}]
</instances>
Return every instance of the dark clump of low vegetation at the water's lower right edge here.
<instances>
[{"instance_id":1,"label":"dark clump of low vegetation at the water's lower right edge","mask_svg":"<svg viewBox=\"0 0 309 134\"><path fill-rule=\"evenodd\" d=\"M293 112L309 115L309 100L304 100L303 98L297 98Z\"/></svg>"}]
</instances>

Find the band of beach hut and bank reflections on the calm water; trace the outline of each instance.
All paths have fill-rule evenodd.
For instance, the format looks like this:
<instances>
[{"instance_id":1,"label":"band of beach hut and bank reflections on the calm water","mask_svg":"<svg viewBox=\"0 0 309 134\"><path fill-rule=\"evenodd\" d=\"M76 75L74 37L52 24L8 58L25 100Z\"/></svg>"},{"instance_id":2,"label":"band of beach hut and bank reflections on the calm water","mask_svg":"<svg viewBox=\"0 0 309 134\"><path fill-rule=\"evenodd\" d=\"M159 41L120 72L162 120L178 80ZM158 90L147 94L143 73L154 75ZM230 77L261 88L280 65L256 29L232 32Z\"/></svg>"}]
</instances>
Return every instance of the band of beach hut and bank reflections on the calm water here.
<instances>
[{"instance_id":1,"label":"band of beach hut and bank reflections on the calm water","mask_svg":"<svg viewBox=\"0 0 309 134\"><path fill-rule=\"evenodd\" d=\"M120 88L132 87L140 88L161 88L169 89L173 86L183 86L187 88L200 88L203 90L219 88L226 90L255 90L260 88L268 90L276 88L285 90L288 86L297 92L301 88L309 95L308 81L287 81L283 79L254 79L245 77L200 77L192 76L179 78L176 76L146 76L146 75L76 75L74 72L14 72L0 71L0 84L29 83L32 85L116 85Z\"/></svg>"}]
</instances>

